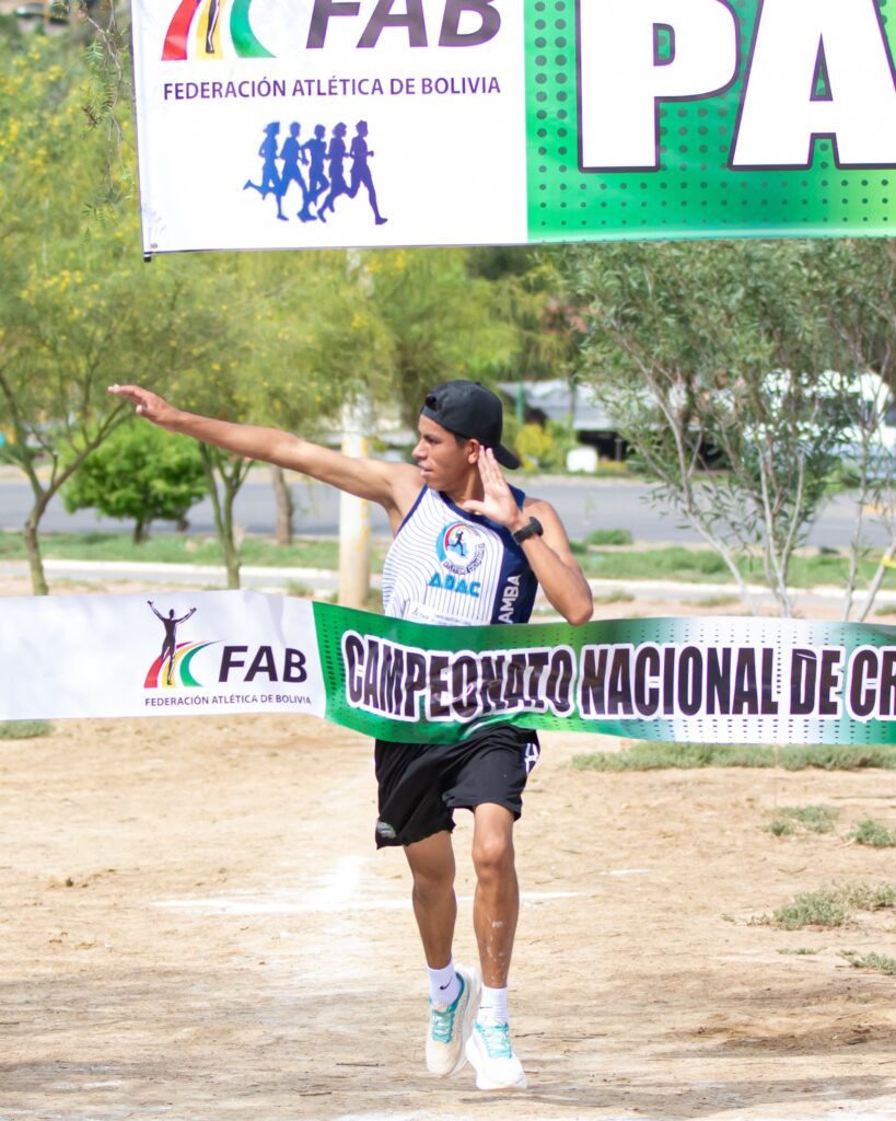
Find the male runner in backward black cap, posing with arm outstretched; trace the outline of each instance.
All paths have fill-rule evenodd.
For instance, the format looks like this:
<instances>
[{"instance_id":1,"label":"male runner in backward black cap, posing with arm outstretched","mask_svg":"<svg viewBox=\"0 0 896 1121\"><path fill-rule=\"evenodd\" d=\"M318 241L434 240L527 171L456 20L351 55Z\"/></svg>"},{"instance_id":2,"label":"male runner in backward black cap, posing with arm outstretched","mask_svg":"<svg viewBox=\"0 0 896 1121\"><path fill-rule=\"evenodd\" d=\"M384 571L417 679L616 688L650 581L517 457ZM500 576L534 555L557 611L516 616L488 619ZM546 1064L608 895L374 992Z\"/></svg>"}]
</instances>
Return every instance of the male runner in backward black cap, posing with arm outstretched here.
<instances>
[{"instance_id":1,"label":"male runner in backward black cap, posing with arm outstretched","mask_svg":"<svg viewBox=\"0 0 896 1121\"><path fill-rule=\"evenodd\" d=\"M500 399L473 381L427 395L413 464L349 458L289 433L196 416L138 386L112 386L139 416L246 458L263 460L379 502L394 532L383 565L385 613L418 622L525 622L536 584L570 623L591 617L591 592L554 509L511 488L519 466L501 444ZM513 725L456 744L376 742L376 845L401 845L429 972L426 1057L438 1076L468 1059L480 1090L525 1086L507 1027L507 972L520 906L513 825L538 738ZM473 925L480 979L454 963L455 809L474 814ZM475 1017L475 1020L474 1020Z\"/></svg>"}]
</instances>

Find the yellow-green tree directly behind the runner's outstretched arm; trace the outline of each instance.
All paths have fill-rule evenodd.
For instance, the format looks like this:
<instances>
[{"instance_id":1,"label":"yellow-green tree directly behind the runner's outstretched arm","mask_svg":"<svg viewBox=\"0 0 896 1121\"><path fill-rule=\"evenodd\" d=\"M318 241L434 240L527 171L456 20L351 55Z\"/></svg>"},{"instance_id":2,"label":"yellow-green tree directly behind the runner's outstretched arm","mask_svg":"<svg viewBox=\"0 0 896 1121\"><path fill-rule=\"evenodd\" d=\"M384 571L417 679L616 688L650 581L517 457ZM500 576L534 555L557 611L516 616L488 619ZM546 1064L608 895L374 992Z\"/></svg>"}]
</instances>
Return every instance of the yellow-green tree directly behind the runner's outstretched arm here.
<instances>
[{"instance_id":1,"label":"yellow-green tree directly behind the runner's outstretched arm","mask_svg":"<svg viewBox=\"0 0 896 1121\"><path fill-rule=\"evenodd\" d=\"M216 260L217 311L232 339L227 344L222 337L214 358L174 379L171 399L188 411L320 439L321 424L347 397L388 377L391 354L388 332L346 269L345 254ZM152 380L147 385L156 388ZM200 444L199 452L227 586L239 587L242 531L234 504L252 463L211 445Z\"/></svg>"}]
</instances>

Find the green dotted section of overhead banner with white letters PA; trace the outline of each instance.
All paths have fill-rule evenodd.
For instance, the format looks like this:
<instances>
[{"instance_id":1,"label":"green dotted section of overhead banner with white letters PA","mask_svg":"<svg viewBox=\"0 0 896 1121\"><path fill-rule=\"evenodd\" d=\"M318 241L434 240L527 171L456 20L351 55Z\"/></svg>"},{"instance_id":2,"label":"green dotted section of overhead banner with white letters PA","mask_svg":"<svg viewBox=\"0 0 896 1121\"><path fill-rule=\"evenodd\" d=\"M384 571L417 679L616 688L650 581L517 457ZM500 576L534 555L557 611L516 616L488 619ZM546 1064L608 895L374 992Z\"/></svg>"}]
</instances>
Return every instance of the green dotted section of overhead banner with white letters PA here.
<instances>
[{"instance_id":1,"label":"green dotted section of overhead banner with white letters PA","mask_svg":"<svg viewBox=\"0 0 896 1121\"><path fill-rule=\"evenodd\" d=\"M528 7L530 239L893 232L894 0Z\"/></svg>"}]
</instances>

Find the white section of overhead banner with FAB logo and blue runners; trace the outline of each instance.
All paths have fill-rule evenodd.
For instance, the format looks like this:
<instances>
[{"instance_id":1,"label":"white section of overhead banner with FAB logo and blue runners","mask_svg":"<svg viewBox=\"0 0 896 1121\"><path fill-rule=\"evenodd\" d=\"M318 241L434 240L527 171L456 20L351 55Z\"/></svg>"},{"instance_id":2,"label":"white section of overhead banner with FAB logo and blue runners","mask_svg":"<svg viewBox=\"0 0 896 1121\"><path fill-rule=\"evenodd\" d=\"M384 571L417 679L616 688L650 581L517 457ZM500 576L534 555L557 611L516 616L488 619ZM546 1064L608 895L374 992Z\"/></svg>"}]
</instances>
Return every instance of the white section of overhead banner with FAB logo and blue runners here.
<instances>
[{"instance_id":1,"label":"white section of overhead banner with FAB logo and blue runners","mask_svg":"<svg viewBox=\"0 0 896 1121\"><path fill-rule=\"evenodd\" d=\"M520 0L132 12L147 252L526 240Z\"/></svg>"}]
</instances>

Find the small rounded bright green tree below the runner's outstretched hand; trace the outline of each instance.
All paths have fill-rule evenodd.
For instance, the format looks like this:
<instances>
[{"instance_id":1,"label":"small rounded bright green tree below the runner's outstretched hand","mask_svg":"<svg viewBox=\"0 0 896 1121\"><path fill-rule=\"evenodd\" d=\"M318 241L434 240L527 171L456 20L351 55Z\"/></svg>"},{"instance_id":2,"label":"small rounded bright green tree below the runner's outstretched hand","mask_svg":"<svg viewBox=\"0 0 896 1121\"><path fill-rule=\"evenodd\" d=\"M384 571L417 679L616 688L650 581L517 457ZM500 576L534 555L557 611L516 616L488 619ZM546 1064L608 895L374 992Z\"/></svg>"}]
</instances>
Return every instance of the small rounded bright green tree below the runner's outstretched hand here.
<instances>
[{"instance_id":1,"label":"small rounded bright green tree below the runner's outstretched hand","mask_svg":"<svg viewBox=\"0 0 896 1121\"><path fill-rule=\"evenodd\" d=\"M92 452L63 488L66 510L131 518L140 544L159 519L179 521L206 492L195 441L148 424L124 424Z\"/></svg>"}]
</instances>

